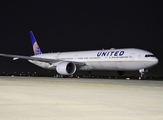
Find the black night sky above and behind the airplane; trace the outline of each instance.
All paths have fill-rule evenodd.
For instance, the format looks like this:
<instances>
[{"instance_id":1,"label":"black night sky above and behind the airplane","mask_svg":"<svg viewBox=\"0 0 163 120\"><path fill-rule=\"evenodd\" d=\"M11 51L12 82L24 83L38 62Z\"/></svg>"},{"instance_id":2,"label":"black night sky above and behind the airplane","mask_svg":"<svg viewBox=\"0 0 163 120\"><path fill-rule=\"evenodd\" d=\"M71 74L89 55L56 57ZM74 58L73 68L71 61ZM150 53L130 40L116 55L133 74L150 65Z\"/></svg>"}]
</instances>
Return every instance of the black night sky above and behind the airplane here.
<instances>
[{"instance_id":1,"label":"black night sky above and behind the airplane","mask_svg":"<svg viewBox=\"0 0 163 120\"><path fill-rule=\"evenodd\" d=\"M33 55L29 31L43 53L140 48L159 64L148 75L163 76L163 2L4 1L0 4L0 53ZM0 73L48 73L26 60L0 57Z\"/></svg>"}]
</instances>

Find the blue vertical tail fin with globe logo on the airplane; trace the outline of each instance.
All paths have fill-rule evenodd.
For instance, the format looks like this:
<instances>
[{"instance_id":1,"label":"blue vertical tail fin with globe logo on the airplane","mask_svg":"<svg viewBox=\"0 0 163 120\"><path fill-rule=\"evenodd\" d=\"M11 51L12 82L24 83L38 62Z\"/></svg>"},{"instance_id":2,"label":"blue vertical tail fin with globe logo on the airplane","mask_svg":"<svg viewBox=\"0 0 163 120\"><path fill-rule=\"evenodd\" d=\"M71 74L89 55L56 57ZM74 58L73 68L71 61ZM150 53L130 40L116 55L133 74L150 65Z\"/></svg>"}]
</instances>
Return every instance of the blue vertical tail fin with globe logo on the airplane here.
<instances>
[{"instance_id":1,"label":"blue vertical tail fin with globe logo on the airplane","mask_svg":"<svg viewBox=\"0 0 163 120\"><path fill-rule=\"evenodd\" d=\"M42 54L38 44L37 44L37 41L33 35L33 32L32 31L29 31L29 34L31 36L31 41L32 41L32 47L33 47L33 52L35 55L39 55L39 54Z\"/></svg>"}]
</instances>

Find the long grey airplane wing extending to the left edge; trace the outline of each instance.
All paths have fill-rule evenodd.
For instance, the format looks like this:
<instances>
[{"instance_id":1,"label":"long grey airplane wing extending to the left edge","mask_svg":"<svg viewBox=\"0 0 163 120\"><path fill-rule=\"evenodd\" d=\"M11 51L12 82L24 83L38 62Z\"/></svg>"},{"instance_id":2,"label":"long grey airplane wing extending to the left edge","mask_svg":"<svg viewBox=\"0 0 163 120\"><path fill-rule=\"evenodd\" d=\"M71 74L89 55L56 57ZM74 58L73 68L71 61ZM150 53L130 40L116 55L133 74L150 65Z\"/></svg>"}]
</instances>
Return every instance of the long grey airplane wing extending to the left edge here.
<instances>
[{"instance_id":1,"label":"long grey airplane wing extending to the left edge","mask_svg":"<svg viewBox=\"0 0 163 120\"><path fill-rule=\"evenodd\" d=\"M30 57L30 56L21 56L21 55L9 55L9 54L0 54L0 56L3 57L11 57L13 60L17 59L26 59L26 60L34 60L34 61L40 61L40 62L47 62L47 63L56 63L64 60L59 60L59 59L48 59L48 58L39 58L39 57ZM75 61L69 61L73 62L74 64L77 65L84 65L82 62L75 62Z\"/></svg>"}]
</instances>

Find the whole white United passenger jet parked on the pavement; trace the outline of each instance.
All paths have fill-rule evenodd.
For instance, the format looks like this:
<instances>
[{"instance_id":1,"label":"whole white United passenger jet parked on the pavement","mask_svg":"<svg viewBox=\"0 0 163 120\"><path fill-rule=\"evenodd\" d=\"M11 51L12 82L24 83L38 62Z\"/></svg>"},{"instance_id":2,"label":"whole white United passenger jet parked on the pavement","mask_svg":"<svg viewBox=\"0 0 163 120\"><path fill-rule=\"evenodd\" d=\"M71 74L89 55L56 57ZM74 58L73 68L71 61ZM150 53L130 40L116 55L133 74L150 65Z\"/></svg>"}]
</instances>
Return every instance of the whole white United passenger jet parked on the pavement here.
<instances>
[{"instance_id":1,"label":"whole white United passenger jet parked on the pavement","mask_svg":"<svg viewBox=\"0 0 163 120\"><path fill-rule=\"evenodd\" d=\"M153 53L138 48L42 53L33 32L29 33L34 51L33 56L9 54L0 54L0 56L12 57L13 60L26 59L39 67L56 70L60 75L73 75L76 70L117 71L123 75L125 71L138 70L139 79L144 78L144 73L148 68L158 63Z\"/></svg>"}]
</instances>

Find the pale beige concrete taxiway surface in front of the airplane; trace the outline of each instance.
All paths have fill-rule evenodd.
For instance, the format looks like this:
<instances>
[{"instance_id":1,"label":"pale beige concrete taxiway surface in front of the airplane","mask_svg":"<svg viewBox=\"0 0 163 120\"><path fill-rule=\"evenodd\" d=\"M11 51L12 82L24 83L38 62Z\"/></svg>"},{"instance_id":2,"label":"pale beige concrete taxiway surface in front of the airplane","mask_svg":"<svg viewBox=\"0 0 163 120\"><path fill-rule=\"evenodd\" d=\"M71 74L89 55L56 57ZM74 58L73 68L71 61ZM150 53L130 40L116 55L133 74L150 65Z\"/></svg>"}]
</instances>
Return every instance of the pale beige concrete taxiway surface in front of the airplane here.
<instances>
[{"instance_id":1,"label":"pale beige concrete taxiway surface in front of the airplane","mask_svg":"<svg viewBox=\"0 0 163 120\"><path fill-rule=\"evenodd\" d=\"M163 120L163 81L0 76L0 120Z\"/></svg>"}]
</instances>

